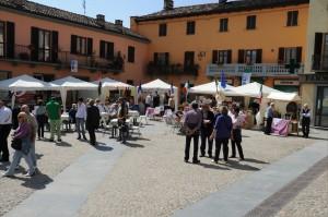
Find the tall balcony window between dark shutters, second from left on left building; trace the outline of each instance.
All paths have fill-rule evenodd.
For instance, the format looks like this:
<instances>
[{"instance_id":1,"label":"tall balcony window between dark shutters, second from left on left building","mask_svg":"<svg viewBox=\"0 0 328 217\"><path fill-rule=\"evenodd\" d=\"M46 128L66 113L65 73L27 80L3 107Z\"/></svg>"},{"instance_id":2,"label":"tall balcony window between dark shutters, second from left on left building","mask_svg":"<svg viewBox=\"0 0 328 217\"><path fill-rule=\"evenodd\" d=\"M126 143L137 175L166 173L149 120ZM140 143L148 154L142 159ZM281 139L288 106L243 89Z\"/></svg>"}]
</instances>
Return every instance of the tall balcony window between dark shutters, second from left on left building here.
<instances>
[{"instance_id":1,"label":"tall balcony window between dark shutters, second from left on left building","mask_svg":"<svg viewBox=\"0 0 328 217\"><path fill-rule=\"evenodd\" d=\"M51 32L38 31L38 61L49 62L51 61Z\"/></svg>"}]
</instances>

